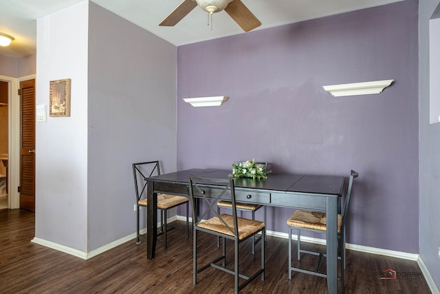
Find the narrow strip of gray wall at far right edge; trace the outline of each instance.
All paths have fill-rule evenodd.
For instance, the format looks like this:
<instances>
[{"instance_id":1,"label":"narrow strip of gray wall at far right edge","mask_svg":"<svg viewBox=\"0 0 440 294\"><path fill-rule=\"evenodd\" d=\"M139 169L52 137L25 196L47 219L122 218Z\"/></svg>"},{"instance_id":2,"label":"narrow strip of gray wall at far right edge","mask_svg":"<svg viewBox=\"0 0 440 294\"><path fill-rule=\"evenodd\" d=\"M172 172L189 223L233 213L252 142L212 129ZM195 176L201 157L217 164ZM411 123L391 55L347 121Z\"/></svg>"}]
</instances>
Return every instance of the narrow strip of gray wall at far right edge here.
<instances>
[{"instance_id":1,"label":"narrow strip of gray wall at far right edge","mask_svg":"<svg viewBox=\"0 0 440 294\"><path fill-rule=\"evenodd\" d=\"M419 3L420 255L440 288L440 123L429 124L429 19L439 0ZM439 54L439 52L437 52ZM437 64L437 67L440 66ZM438 96L437 96L438 98Z\"/></svg>"}]
</instances>

